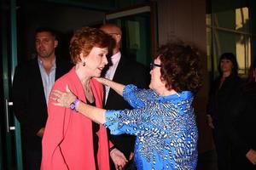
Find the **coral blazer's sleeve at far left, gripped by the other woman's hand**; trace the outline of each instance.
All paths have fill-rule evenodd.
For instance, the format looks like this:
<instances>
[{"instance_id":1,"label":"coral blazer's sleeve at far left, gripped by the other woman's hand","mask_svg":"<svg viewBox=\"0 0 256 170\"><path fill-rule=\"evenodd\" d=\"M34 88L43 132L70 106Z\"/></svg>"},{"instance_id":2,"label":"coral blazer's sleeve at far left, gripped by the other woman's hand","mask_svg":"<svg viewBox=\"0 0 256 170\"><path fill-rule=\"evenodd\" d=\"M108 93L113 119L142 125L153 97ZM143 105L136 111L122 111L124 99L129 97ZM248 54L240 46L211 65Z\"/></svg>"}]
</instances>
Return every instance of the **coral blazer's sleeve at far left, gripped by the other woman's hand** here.
<instances>
[{"instance_id":1,"label":"coral blazer's sleeve at far left, gripped by the other woman's hand","mask_svg":"<svg viewBox=\"0 0 256 170\"><path fill-rule=\"evenodd\" d=\"M61 88L55 86L53 89ZM61 152L61 142L65 137L65 127L67 127L68 120L70 120L70 112L64 107L53 105L53 102L54 100L49 99L48 120L42 141L41 170L68 169L65 156Z\"/></svg>"}]
</instances>

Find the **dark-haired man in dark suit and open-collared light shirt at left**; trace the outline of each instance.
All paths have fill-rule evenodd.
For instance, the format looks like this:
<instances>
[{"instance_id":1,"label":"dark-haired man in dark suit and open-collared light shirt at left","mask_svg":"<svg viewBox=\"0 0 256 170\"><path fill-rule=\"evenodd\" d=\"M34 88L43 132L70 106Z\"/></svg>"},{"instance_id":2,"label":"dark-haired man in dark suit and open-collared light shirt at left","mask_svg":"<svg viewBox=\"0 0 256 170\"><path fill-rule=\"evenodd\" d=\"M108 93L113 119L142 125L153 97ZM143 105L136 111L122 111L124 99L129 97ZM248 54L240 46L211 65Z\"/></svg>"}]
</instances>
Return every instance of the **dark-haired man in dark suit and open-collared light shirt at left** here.
<instances>
[{"instance_id":1,"label":"dark-haired man in dark suit and open-collared light shirt at left","mask_svg":"<svg viewBox=\"0 0 256 170\"><path fill-rule=\"evenodd\" d=\"M49 28L38 28L35 46L37 58L18 65L13 82L15 116L20 122L26 170L40 169L49 93L55 80L72 66L55 57L58 41L55 32Z\"/></svg>"}]
</instances>

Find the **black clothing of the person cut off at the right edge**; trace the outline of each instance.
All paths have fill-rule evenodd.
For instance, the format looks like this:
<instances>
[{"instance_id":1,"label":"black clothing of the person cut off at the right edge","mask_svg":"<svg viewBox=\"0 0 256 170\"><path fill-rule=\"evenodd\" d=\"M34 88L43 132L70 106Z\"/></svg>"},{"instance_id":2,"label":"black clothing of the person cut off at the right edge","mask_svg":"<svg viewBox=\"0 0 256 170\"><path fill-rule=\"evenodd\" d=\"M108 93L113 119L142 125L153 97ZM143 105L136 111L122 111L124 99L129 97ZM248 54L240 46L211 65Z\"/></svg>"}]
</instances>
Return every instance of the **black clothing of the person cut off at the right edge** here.
<instances>
[{"instance_id":1,"label":"black clothing of the person cut off at the right edge","mask_svg":"<svg viewBox=\"0 0 256 170\"><path fill-rule=\"evenodd\" d=\"M250 149L256 150L256 82L247 83L236 92L228 109L225 125L232 146L232 169L255 170L246 154Z\"/></svg>"}]
</instances>

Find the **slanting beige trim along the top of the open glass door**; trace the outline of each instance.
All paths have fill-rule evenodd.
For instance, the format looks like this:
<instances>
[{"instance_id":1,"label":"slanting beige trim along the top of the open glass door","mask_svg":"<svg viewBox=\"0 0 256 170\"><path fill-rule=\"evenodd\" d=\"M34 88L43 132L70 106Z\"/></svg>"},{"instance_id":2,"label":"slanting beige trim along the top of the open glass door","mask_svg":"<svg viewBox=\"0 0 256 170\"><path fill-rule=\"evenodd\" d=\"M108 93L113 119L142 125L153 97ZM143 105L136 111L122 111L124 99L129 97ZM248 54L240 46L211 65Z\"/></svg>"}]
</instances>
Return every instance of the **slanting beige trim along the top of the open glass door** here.
<instances>
[{"instance_id":1,"label":"slanting beige trim along the top of the open glass door","mask_svg":"<svg viewBox=\"0 0 256 170\"><path fill-rule=\"evenodd\" d=\"M120 11L120 12L113 13L113 14L106 14L106 20L117 19L117 18L121 18L124 16L132 15L132 14L140 14L140 13L145 13L145 12L150 12L150 6L144 6L141 8L132 8L129 10Z\"/></svg>"}]
</instances>

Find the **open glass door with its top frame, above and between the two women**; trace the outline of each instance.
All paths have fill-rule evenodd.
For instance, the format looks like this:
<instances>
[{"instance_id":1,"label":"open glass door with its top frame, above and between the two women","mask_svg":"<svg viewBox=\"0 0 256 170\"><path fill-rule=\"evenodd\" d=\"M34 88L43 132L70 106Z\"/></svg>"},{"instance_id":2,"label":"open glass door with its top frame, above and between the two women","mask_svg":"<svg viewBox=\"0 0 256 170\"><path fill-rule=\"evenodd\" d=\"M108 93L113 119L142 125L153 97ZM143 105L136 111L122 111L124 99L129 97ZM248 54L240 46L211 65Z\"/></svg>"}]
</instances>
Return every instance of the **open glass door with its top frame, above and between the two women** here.
<instances>
[{"instance_id":1,"label":"open glass door with its top frame, above and between the two women","mask_svg":"<svg viewBox=\"0 0 256 170\"><path fill-rule=\"evenodd\" d=\"M154 3L106 14L106 20L123 32L121 50L148 66L156 48Z\"/></svg>"}]
</instances>

